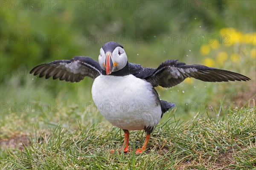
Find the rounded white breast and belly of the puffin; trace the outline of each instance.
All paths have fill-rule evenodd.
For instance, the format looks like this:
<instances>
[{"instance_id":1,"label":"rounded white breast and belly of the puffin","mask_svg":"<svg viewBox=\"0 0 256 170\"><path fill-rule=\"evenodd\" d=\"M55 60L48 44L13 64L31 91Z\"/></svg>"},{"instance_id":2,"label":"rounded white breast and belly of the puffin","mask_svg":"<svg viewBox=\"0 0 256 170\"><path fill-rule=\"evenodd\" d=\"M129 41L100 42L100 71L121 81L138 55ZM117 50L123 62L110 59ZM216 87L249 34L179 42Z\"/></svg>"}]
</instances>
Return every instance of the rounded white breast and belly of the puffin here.
<instances>
[{"instance_id":1,"label":"rounded white breast and belly of the puffin","mask_svg":"<svg viewBox=\"0 0 256 170\"><path fill-rule=\"evenodd\" d=\"M92 97L100 113L111 124L126 130L155 126L161 118L161 106L143 79L100 75L93 82Z\"/></svg>"}]
</instances>

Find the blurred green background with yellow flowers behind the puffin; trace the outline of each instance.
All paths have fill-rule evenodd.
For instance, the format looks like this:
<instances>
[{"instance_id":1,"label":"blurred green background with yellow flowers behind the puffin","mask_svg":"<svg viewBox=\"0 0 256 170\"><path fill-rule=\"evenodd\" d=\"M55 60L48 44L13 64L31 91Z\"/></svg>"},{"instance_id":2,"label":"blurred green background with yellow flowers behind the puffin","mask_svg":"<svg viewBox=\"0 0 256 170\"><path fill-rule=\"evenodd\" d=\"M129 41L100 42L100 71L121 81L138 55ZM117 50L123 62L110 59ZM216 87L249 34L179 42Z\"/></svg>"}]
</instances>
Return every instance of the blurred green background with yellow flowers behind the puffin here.
<instances>
[{"instance_id":1,"label":"blurred green background with yellow flowers behind the puffin","mask_svg":"<svg viewBox=\"0 0 256 170\"><path fill-rule=\"evenodd\" d=\"M98 111L87 108L93 79L45 80L29 71L74 56L98 60L99 49L108 41L122 44L128 61L145 67L179 59L252 79L222 83L188 79L171 89L157 88L160 98L178 106L163 119L175 114L185 121L207 111L215 116L218 110L223 114L255 99L254 0L2 0L0 13L1 135L27 133L32 125L47 129L58 122L67 127L77 120L107 123Z\"/></svg>"}]
</instances>

